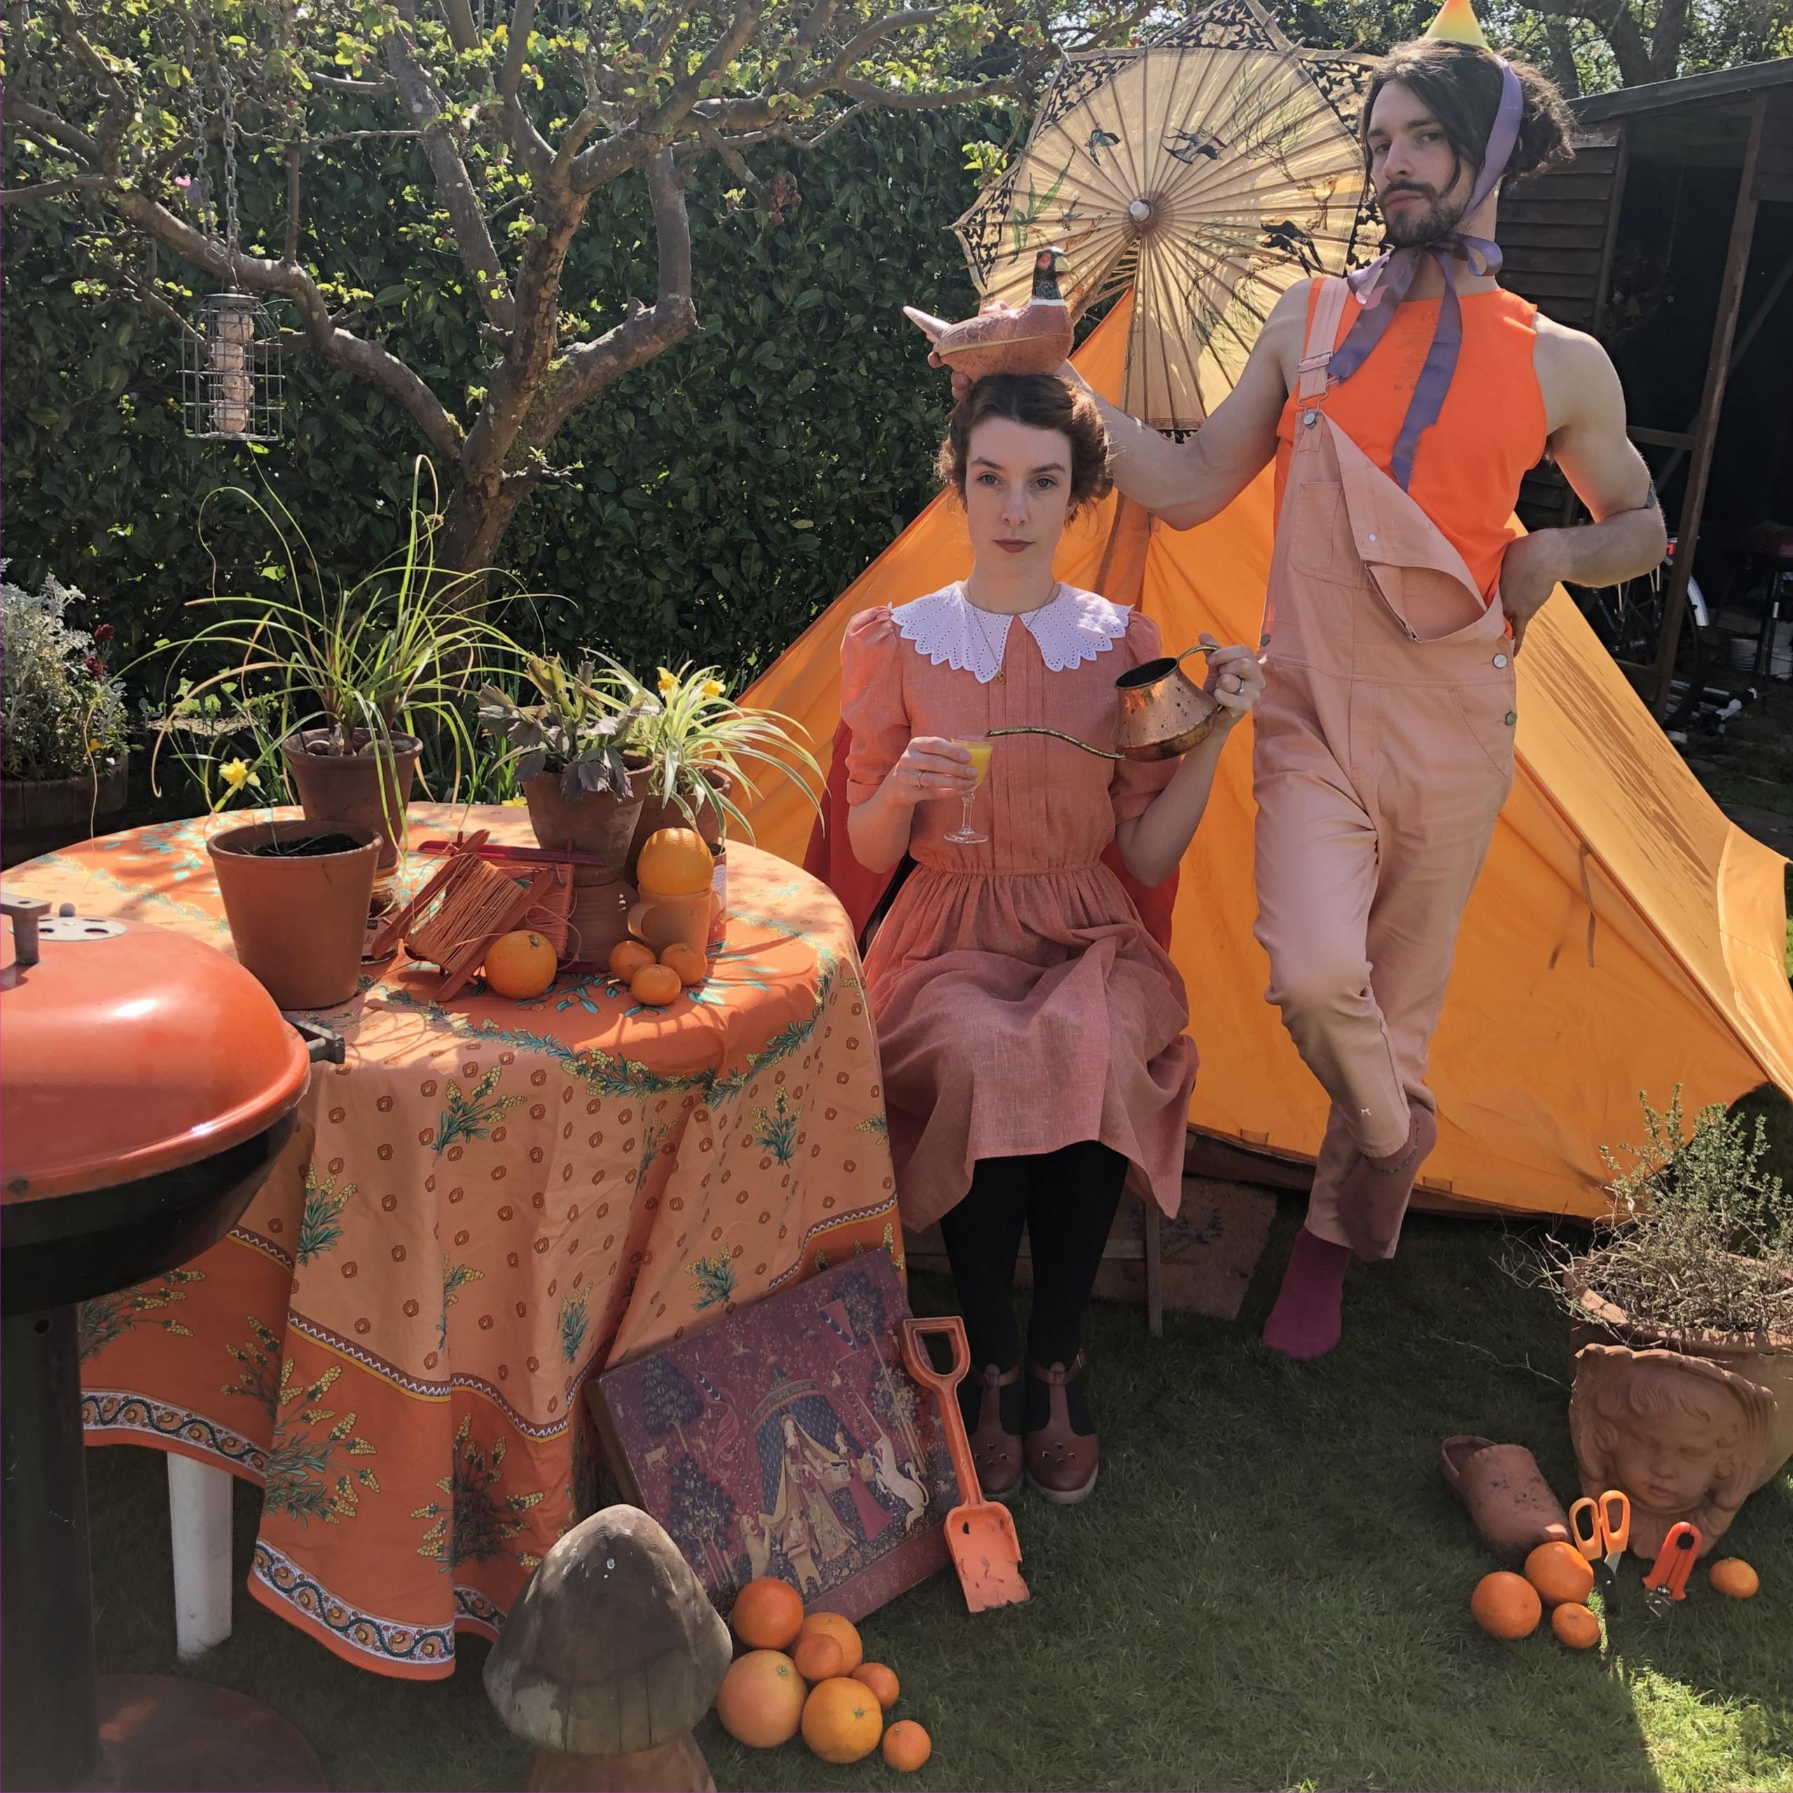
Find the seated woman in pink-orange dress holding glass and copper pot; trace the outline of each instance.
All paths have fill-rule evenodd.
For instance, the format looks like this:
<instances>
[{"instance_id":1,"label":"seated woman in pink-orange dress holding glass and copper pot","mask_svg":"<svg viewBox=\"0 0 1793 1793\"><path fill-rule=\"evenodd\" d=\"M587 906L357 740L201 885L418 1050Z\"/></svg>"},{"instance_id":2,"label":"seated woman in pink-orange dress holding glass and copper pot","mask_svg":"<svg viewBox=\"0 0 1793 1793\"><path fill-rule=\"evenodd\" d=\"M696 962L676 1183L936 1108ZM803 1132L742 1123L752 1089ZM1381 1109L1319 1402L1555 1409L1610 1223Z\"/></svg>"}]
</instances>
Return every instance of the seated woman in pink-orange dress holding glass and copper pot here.
<instances>
[{"instance_id":1,"label":"seated woman in pink-orange dress holding glass and copper pot","mask_svg":"<svg viewBox=\"0 0 1793 1793\"><path fill-rule=\"evenodd\" d=\"M1201 819L1228 732L1262 690L1246 647L1208 654L1223 726L1180 760L1110 762L1044 735L992 742L977 789L959 746L1044 724L1106 748L1115 680L1158 656L1146 617L1052 577L1067 518L1108 491L1096 407L1054 377L992 377L940 455L965 504L972 574L870 610L841 649L852 728L848 832L871 870L916 861L866 957L904 1223L941 1223L972 1375L961 1384L984 1494L1026 1474L1081 1501L1097 1443L1079 1329L1122 1183L1182 1194L1196 1076L1183 981L1101 864L1162 882ZM972 809L979 845L950 832ZM1015 1325L1033 1253L1026 1354ZM1026 1363L1026 1381L1022 1366Z\"/></svg>"}]
</instances>

